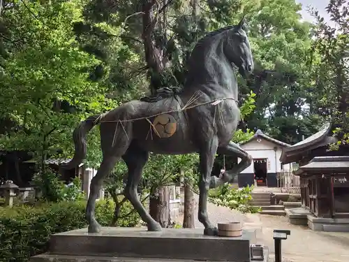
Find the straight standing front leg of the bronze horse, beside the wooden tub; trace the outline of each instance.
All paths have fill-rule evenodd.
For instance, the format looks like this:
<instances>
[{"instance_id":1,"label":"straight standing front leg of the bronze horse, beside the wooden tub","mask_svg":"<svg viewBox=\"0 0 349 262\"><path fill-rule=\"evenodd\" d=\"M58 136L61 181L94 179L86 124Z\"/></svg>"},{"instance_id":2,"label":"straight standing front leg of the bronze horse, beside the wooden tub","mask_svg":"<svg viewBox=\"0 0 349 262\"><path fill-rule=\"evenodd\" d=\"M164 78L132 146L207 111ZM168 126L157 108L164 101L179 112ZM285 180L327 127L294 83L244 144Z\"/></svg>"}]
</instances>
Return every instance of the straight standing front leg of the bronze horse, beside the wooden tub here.
<instances>
[{"instance_id":1,"label":"straight standing front leg of the bronze horse, beside the wooden tub","mask_svg":"<svg viewBox=\"0 0 349 262\"><path fill-rule=\"evenodd\" d=\"M218 147L218 138L212 138L200 150L199 210L198 219L205 226L204 235L218 235L218 229L209 221L207 215L207 194L214 158Z\"/></svg>"}]
</instances>

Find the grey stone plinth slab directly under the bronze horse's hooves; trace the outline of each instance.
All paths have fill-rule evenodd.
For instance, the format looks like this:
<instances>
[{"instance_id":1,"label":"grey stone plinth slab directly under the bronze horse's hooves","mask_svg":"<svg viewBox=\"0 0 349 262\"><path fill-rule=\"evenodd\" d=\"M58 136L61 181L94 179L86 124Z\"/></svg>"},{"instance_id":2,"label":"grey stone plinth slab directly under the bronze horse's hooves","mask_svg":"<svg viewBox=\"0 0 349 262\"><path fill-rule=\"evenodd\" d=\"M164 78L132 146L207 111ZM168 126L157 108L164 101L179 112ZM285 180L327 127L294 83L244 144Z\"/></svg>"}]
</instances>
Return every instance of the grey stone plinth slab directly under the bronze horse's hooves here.
<instances>
[{"instance_id":1,"label":"grey stone plinth slab directly under the bronze horse's hooves","mask_svg":"<svg viewBox=\"0 0 349 262\"><path fill-rule=\"evenodd\" d=\"M255 237L253 229L244 230L239 238L222 238L189 228L163 228L161 232L102 228L101 233L87 233L87 228L83 228L52 235L49 252L66 256L249 262L249 245Z\"/></svg>"}]
</instances>

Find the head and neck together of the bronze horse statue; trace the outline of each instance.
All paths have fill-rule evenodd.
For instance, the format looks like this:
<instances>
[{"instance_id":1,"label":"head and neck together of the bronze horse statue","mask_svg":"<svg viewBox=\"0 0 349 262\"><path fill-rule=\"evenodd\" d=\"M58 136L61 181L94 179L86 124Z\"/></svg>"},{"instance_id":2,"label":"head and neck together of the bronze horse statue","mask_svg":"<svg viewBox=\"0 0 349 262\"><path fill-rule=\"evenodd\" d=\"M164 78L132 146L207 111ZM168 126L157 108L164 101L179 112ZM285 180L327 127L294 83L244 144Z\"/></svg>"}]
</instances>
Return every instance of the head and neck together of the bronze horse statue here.
<instances>
[{"instance_id":1,"label":"head and neck together of the bronze horse statue","mask_svg":"<svg viewBox=\"0 0 349 262\"><path fill-rule=\"evenodd\" d=\"M232 64L246 78L254 68L247 27L243 17L235 26L209 32L196 43L188 59L188 73L184 88L198 88L207 82L235 89ZM201 76L198 78L198 76ZM204 77L205 76L205 77Z\"/></svg>"}]
</instances>

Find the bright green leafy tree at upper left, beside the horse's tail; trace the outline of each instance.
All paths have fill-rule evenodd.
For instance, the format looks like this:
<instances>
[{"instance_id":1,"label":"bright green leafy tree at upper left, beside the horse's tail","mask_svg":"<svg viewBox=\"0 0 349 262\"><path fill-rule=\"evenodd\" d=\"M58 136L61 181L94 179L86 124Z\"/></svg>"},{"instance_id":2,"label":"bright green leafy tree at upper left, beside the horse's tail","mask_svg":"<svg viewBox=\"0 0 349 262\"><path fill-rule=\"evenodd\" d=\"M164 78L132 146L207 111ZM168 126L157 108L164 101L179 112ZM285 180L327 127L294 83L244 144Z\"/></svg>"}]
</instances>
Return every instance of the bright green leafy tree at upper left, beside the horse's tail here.
<instances>
[{"instance_id":1,"label":"bright green leafy tree at upper left, beside the horse's tail","mask_svg":"<svg viewBox=\"0 0 349 262\"><path fill-rule=\"evenodd\" d=\"M100 61L80 50L72 31L83 20L84 4L15 1L4 10L7 33L20 40L15 46L4 43L0 114L14 127L0 137L1 150L33 152L40 161L54 154L69 157L75 124L114 107L105 99L107 89L90 79Z\"/></svg>"}]
</instances>

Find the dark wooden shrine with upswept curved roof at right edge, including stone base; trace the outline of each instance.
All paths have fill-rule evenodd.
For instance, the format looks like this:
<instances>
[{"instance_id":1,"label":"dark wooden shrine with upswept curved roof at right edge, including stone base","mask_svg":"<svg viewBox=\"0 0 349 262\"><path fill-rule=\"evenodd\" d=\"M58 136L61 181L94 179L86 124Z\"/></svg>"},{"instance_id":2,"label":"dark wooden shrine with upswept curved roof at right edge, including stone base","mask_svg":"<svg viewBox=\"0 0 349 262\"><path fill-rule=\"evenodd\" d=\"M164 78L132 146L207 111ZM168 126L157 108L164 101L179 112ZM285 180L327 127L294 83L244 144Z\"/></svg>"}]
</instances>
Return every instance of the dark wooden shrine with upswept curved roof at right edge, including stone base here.
<instances>
[{"instance_id":1,"label":"dark wooden shrine with upswept curved roof at right edge, including stone base","mask_svg":"<svg viewBox=\"0 0 349 262\"><path fill-rule=\"evenodd\" d=\"M349 150L329 150L336 143L332 125L301 142L285 147L281 163L299 163L303 216L317 231L349 232Z\"/></svg>"}]
</instances>

